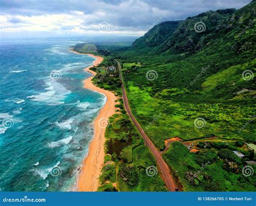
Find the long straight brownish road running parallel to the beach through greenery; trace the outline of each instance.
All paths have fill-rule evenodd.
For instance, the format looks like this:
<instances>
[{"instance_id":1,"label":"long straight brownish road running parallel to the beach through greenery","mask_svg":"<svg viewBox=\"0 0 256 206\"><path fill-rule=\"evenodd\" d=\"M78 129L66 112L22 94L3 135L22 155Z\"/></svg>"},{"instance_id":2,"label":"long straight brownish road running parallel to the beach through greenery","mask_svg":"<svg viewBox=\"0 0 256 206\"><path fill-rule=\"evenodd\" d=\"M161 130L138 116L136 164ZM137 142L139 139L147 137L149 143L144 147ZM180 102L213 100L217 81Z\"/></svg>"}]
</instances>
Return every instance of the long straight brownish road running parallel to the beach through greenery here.
<instances>
[{"instance_id":1,"label":"long straight brownish road running parallel to the beach through greenery","mask_svg":"<svg viewBox=\"0 0 256 206\"><path fill-rule=\"evenodd\" d=\"M125 90L125 86L124 86L122 68L121 68L120 63L118 61L117 61L117 64L118 64L118 70L119 70L119 77L122 80L122 91L123 91L123 99L124 99L124 106L125 106L126 112L130 116L134 125L137 127L139 133L143 136L143 138L145 140L145 143L146 143L146 146L149 147L151 152L153 153L154 158L156 159L157 164L159 166L158 168L160 169L159 172L160 172L161 176L163 177L163 179L165 181L165 185L166 185L167 189L169 191L175 191L176 185L173 181L173 177L170 173L169 167L167 166L166 162L164 161L163 157L161 156L161 153L159 152L159 150L154 146L153 142L149 139L149 137L143 131L142 126L140 126L140 124L138 123L136 118L134 118L134 116L131 112L131 108L129 106L129 102L128 102L128 98L127 98L126 90Z\"/></svg>"}]
</instances>

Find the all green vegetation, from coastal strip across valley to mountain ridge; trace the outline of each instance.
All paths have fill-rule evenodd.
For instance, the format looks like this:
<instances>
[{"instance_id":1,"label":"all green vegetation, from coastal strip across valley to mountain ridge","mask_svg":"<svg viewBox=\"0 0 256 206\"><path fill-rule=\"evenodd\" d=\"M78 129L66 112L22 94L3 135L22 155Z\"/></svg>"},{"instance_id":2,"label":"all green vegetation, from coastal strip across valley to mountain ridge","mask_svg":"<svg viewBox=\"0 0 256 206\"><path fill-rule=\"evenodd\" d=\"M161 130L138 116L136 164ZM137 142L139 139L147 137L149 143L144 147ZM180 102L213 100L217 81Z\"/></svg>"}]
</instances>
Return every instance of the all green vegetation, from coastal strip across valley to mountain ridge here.
<instances>
[{"instance_id":1,"label":"all green vegetation, from coastal strip across valley to mountain ridge","mask_svg":"<svg viewBox=\"0 0 256 206\"><path fill-rule=\"evenodd\" d=\"M160 23L129 48L99 45L107 58L95 68L95 84L120 95L117 72L105 75L110 74L106 66L116 67L114 59L120 61L133 115L159 150L172 137L200 139L196 153L173 142L163 154L185 191L256 189L255 178L242 175L245 161L255 161L245 144L256 143L255 10L252 1L239 10L207 11ZM203 26L200 32L198 23ZM153 156L134 130L122 100L117 107L120 113L106 131L106 164L116 170L103 171L103 189L111 190L117 181L118 191L165 190L159 176L146 176L145 168L155 165ZM205 145L211 137L217 140ZM245 157L238 158L233 150Z\"/></svg>"}]
</instances>

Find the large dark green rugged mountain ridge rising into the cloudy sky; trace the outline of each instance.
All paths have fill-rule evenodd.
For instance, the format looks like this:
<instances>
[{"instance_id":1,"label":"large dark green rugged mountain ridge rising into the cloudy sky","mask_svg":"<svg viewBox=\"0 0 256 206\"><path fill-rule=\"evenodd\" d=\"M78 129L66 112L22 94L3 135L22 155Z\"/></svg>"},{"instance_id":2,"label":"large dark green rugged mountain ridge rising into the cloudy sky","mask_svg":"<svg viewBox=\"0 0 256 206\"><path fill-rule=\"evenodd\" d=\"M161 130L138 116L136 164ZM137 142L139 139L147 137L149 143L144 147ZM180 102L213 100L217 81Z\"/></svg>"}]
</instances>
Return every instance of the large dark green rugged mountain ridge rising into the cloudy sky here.
<instances>
[{"instance_id":1,"label":"large dark green rugged mountain ridge rising into the cloudy sky","mask_svg":"<svg viewBox=\"0 0 256 206\"><path fill-rule=\"evenodd\" d=\"M129 51L121 55L121 59L142 61L143 67L156 66L157 72L159 68L159 78L163 70L165 77L172 77L174 73L181 73L181 77L190 77L183 83L182 79L171 83L166 82L166 78L163 77L161 81L163 85L156 83L158 88L185 87L194 91L201 90L203 88L201 84L208 76L225 68L245 63L250 63L251 67L254 66L256 42L254 9L255 1L240 10L208 11L196 17L188 17L181 22L160 23L137 39ZM195 30L197 23L201 24L205 31L197 32ZM181 70L183 66L186 68ZM189 70L187 70L188 66ZM203 77L190 85L189 83L200 74L201 68L207 66L209 68ZM238 90L235 92L244 88L252 90L255 80L252 82L253 84L241 82L237 85ZM232 98L232 95L228 95L228 98Z\"/></svg>"}]
</instances>

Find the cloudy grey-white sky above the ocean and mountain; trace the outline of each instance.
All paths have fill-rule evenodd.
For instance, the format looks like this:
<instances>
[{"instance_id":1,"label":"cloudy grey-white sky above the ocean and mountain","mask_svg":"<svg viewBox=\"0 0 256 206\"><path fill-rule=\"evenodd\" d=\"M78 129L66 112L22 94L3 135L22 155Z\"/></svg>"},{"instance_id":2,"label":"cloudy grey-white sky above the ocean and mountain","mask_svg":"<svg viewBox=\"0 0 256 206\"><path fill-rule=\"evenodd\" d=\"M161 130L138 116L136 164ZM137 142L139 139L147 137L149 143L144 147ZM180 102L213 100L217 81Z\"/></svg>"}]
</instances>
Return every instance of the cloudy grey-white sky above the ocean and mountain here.
<instances>
[{"instance_id":1,"label":"cloudy grey-white sky above the ocean and mountain","mask_svg":"<svg viewBox=\"0 0 256 206\"><path fill-rule=\"evenodd\" d=\"M142 36L164 20L236 8L250 0L0 0L1 37Z\"/></svg>"}]
</instances>

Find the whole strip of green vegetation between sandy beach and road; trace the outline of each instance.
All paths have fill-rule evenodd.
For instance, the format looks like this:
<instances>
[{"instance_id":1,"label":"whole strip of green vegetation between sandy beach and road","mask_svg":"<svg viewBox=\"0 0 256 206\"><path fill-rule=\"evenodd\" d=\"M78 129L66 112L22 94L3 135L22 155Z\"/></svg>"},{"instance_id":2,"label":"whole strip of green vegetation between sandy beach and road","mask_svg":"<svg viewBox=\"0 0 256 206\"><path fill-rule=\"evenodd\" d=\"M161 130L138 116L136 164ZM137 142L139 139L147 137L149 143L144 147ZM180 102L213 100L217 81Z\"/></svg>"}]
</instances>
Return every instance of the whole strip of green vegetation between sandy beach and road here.
<instances>
[{"instance_id":1,"label":"whole strip of green vegetation between sandy beach and road","mask_svg":"<svg viewBox=\"0 0 256 206\"><path fill-rule=\"evenodd\" d=\"M103 63L91 70L97 72L94 84L122 95L113 58L104 57ZM105 132L106 155L98 191L166 191L159 174L152 177L146 174L146 168L156 166L156 160L126 114L123 99L118 99L116 107L118 113L110 118Z\"/></svg>"}]
</instances>

